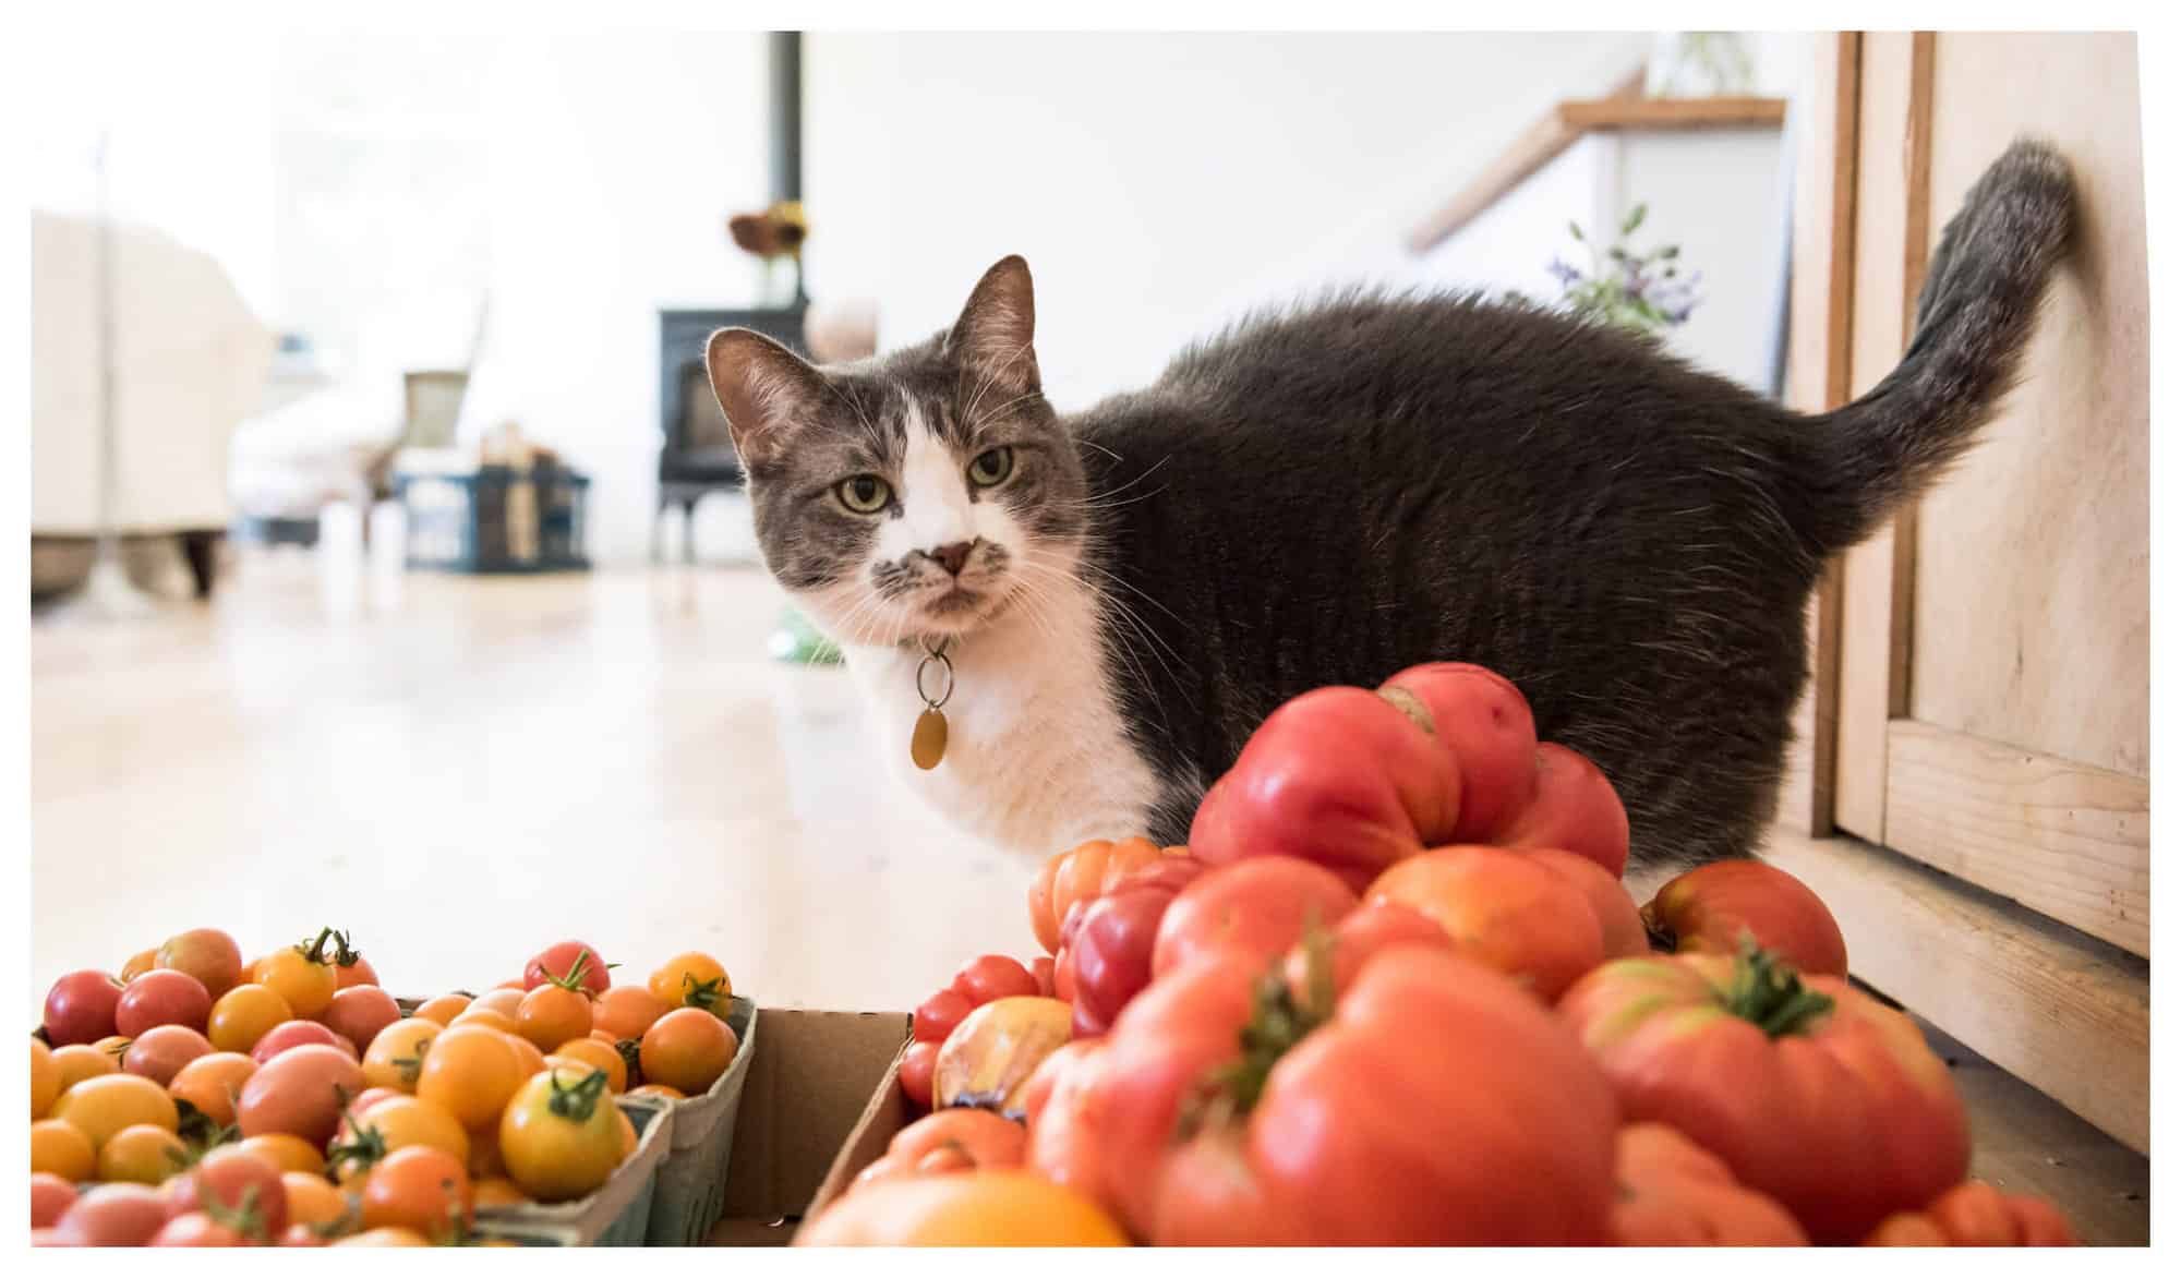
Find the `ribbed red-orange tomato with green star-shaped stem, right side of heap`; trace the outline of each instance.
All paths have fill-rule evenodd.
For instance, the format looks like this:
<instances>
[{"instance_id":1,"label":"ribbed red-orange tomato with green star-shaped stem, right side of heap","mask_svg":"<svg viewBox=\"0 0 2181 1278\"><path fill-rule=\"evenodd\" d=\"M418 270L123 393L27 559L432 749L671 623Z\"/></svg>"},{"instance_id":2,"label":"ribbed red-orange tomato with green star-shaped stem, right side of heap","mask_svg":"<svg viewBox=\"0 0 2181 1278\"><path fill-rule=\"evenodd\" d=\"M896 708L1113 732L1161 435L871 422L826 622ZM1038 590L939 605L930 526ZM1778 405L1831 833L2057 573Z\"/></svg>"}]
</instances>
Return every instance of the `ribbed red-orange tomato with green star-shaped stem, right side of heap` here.
<instances>
[{"instance_id":1,"label":"ribbed red-orange tomato with green star-shaped stem, right side of heap","mask_svg":"<svg viewBox=\"0 0 2181 1278\"><path fill-rule=\"evenodd\" d=\"M1559 1003L1625 1121L1668 1123L1817 1243L1854 1243L1969 1169L1961 1095L1915 1023L1775 955L1616 960Z\"/></svg>"}]
</instances>

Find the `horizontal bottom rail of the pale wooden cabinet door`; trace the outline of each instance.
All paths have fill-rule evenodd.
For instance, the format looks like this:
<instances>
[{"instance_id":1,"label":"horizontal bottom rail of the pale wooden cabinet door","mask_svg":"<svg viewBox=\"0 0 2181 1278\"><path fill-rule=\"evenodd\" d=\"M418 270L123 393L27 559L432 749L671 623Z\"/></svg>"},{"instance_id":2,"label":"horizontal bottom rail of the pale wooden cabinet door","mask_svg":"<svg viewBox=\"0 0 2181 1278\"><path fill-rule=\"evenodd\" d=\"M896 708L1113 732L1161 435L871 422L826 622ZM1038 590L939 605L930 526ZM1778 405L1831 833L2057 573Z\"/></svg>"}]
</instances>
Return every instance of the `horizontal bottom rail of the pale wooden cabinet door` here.
<instances>
[{"instance_id":1,"label":"horizontal bottom rail of the pale wooden cabinet door","mask_svg":"<svg viewBox=\"0 0 2181 1278\"><path fill-rule=\"evenodd\" d=\"M1887 844L2150 953L2150 783L1895 720Z\"/></svg>"}]
</instances>

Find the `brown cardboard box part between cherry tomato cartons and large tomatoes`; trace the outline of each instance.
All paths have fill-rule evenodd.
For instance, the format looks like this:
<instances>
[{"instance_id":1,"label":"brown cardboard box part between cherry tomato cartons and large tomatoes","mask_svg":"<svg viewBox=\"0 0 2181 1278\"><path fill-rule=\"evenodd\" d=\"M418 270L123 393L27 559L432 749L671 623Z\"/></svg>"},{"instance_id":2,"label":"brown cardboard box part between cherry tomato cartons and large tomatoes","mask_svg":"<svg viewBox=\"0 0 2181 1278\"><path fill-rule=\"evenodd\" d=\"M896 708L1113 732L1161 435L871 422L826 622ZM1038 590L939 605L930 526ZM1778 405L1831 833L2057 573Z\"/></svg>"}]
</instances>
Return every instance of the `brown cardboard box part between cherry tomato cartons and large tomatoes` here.
<instances>
[{"instance_id":1,"label":"brown cardboard box part between cherry tomato cartons and large tomatoes","mask_svg":"<svg viewBox=\"0 0 2181 1278\"><path fill-rule=\"evenodd\" d=\"M759 1023L718 1247L785 1245L907 1121L894 1075L907 1012L763 1008Z\"/></svg>"}]
</instances>

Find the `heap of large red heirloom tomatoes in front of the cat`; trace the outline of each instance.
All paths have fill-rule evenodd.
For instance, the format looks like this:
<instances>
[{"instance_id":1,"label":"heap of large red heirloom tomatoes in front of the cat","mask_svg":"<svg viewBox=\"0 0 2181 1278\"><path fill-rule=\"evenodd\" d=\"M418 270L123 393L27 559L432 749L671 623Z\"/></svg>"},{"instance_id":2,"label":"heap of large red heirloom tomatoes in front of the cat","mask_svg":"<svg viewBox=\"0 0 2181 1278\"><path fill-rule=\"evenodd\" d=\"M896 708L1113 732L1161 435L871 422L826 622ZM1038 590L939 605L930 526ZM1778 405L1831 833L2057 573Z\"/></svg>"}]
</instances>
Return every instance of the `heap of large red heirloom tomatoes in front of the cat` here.
<instances>
[{"instance_id":1,"label":"heap of large red heirloom tomatoes in front of the cat","mask_svg":"<svg viewBox=\"0 0 2181 1278\"><path fill-rule=\"evenodd\" d=\"M1049 957L916 1010L925 1117L798 1243L2074 1241L1967 1180L1945 1062L1815 892L1721 861L1638 907L1627 846L1487 670L1311 691L1186 846L1047 861Z\"/></svg>"}]
</instances>

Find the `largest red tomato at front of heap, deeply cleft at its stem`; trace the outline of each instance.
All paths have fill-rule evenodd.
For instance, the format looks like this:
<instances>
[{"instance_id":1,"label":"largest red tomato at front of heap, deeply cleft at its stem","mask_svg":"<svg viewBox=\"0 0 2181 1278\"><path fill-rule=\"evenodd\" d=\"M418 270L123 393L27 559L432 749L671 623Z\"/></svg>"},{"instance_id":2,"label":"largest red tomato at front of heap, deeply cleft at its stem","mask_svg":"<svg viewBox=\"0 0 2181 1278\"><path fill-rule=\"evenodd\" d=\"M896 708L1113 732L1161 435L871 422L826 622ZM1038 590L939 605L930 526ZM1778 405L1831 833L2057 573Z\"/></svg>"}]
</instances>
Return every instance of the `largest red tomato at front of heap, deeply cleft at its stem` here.
<instances>
[{"instance_id":1,"label":"largest red tomato at front of heap, deeply cleft at its stem","mask_svg":"<svg viewBox=\"0 0 2181 1278\"><path fill-rule=\"evenodd\" d=\"M1149 1243L1610 1239L1612 1090L1546 1008L1424 944L1330 970L1160 977L1045 1088L1029 1167Z\"/></svg>"}]
</instances>

